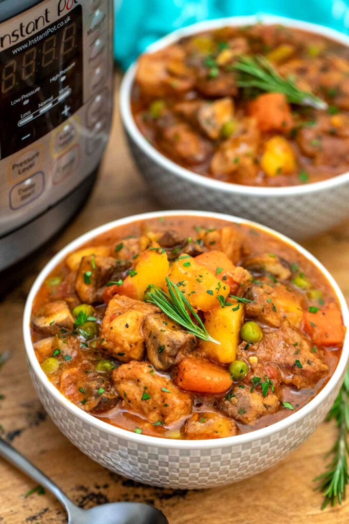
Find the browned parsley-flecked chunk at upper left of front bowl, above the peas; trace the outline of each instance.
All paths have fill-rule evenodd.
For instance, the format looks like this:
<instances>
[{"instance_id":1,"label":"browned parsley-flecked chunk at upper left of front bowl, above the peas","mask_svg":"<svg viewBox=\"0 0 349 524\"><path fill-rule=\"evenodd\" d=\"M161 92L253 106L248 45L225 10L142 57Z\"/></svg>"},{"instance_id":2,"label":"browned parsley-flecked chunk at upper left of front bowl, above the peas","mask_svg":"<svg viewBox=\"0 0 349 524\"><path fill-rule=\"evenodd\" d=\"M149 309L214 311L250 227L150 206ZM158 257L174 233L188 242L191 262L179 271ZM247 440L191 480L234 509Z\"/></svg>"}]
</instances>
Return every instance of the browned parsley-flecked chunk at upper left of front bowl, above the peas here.
<instances>
[{"instance_id":1,"label":"browned parsley-flecked chunk at upper left of front bowl, above the peas","mask_svg":"<svg viewBox=\"0 0 349 524\"><path fill-rule=\"evenodd\" d=\"M115 258L95 255L81 259L75 289L82 302L86 304L102 302L103 289L111 277L115 263Z\"/></svg>"}]
</instances>

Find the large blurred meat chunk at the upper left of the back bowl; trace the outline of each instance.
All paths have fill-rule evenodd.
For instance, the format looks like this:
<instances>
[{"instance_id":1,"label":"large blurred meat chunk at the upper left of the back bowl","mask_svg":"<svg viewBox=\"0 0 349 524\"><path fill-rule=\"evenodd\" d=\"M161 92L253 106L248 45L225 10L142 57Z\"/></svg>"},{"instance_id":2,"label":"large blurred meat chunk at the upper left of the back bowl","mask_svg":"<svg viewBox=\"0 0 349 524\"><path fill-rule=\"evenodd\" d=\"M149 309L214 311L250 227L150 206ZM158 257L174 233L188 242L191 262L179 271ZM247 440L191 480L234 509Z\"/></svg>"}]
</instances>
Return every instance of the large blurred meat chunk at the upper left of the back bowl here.
<instances>
[{"instance_id":1,"label":"large blurred meat chunk at the upper left of the back bowl","mask_svg":"<svg viewBox=\"0 0 349 524\"><path fill-rule=\"evenodd\" d=\"M176 44L155 53L142 54L136 81L150 97L184 93L194 85L193 72L185 65L185 51Z\"/></svg>"}]
</instances>

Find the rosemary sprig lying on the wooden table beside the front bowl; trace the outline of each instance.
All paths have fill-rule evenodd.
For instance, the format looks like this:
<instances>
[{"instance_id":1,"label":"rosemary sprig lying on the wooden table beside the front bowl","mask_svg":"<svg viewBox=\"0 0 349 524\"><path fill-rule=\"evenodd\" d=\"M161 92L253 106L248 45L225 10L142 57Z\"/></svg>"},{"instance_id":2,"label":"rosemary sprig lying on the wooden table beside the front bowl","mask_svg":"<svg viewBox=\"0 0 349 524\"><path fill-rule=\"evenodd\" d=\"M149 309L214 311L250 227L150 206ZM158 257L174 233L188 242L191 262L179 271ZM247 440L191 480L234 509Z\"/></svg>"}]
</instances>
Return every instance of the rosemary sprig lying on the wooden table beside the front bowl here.
<instances>
[{"instance_id":1,"label":"rosemary sprig lying on the wooden table beside the front bowl","mask_svg":"<svg viewBox=\"0 0 349 524\"><path fill-rule=\"evenodd\" d=\"M332 455L332 460L327 466L327 471L314 478L314 482L319 482L316 489L324 495L321 509L324 509L329 503L334 506L336 501L342 504L346 495L345 486L349 483L347 462L349 456L349 369L326 420L332 419L335 420L338 428L337 440L327 454L327 456Z\"/></svg>"}]
</instances>

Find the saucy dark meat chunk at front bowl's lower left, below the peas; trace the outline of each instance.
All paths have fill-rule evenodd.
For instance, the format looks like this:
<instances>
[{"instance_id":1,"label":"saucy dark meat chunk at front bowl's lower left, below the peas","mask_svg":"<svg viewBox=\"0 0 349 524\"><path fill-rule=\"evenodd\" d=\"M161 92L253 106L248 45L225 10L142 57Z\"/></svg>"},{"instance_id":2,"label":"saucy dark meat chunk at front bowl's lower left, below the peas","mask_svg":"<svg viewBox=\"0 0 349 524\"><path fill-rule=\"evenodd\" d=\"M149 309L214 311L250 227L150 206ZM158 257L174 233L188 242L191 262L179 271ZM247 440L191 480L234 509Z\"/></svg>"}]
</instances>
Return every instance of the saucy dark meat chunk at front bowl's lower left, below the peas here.
<instances>
[{"instance_id":1,"label":"saucy dark meat chunk at front bowl's lower left, below the peas","mask_svg":"<svg viewBox=\"0 0 349 524\"><path fill-rule=\"evenodd\" d=\"M76 406L93 414L109 411L119 401L110 375L98 374L87 362L64 370L59 389Z\"/></svg>"}]
</instances>

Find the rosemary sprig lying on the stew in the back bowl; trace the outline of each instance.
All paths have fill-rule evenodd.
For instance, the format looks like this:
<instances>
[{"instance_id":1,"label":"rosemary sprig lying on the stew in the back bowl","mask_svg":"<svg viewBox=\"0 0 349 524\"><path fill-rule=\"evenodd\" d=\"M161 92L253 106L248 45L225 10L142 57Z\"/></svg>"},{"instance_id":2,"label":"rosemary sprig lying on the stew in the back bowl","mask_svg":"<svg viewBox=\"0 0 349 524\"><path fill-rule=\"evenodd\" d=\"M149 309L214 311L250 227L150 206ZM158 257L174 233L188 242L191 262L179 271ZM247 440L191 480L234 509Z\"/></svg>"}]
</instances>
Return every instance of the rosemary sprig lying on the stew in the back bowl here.
<instances>
[{"instance_id":1,"label":"rosemary sprig lying on the stew in the back bowl","mask_svg":"<svg viewBox=\"0 0 349 524\"><path fill-rule=\"evenodd\" d=\"M297 88L289 76L283 78L273 65L262 55L256 57L242 56L232 65L240 71L238 85L240 88L257 88L269 93L283 93L291 104L309 105L326 110L328 104L309 91Z\"/></svg>"}]
</instances>

